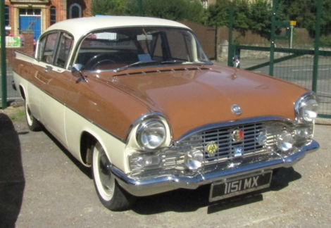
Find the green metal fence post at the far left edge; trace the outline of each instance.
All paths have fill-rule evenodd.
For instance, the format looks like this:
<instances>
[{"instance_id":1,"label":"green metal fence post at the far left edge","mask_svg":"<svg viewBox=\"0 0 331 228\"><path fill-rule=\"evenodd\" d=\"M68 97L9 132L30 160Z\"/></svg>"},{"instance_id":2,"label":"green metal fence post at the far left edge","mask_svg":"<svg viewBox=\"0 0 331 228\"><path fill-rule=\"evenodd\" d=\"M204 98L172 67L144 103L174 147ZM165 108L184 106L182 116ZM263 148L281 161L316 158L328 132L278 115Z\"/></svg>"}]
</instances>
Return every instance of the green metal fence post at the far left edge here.
<instances>
[{"instance_id":1,"label":"green metal fence post at the far left edge","mask_svg":"<svg viewBox=\"0 0 331 228\"><path fill-rule=\"evenodd\" d=\"M5 31L5 3L0 2L0 30L1 30L1 91L2 109L7 108L7 69L6 69L6 31Z\"/></svg>"}]
</instances>

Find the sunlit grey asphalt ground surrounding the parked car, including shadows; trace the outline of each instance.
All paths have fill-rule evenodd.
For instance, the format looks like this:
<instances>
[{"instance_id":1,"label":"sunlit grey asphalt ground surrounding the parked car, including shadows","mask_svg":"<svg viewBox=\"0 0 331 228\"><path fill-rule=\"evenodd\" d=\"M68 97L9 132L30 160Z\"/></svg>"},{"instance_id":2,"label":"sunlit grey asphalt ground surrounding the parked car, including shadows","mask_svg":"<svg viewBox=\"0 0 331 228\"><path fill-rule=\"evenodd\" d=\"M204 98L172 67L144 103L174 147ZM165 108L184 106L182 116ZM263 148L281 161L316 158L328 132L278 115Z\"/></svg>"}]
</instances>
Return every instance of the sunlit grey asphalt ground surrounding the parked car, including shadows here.
<instances>
[{"instance_id":1,"label":"sunlit grey asphalt ground surrounding the parked car, including shadows","mask_svg":"<svg viewBox=\"0 0 331 228\"><path fill-rule=\"evenodd\" d=\"M24 116L8 118L7 109L0 110L0 227L330 227L330 125L316 125L320 149L280 170L270 189L208 203L204 186L112 212L87 168L48 132L30 132Z\"/></svg>"}]
</instances>

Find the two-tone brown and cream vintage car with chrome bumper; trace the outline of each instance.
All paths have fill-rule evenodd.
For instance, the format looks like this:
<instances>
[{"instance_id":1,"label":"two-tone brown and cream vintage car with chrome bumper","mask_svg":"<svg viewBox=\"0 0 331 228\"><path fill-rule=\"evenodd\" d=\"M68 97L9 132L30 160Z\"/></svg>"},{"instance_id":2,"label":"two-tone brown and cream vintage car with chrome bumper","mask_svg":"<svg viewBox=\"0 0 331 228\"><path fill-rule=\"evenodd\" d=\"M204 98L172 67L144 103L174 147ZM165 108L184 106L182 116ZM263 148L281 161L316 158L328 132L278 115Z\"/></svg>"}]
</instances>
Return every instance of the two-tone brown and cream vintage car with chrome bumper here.
<instances>
[{"instance_id":1,"label":"two-tone brown and cream vintage car with chrome bumper","mask_svg":"<svg viewBox=\"0 0 331 228\"><path fill-rule=\"evenodd\" d=\"M110 210L206 184L209 201L268 188L275 170L319 147L316 94L213 64L192 30L170 20L56 23L35 56L16 52L13 74L27 125L92 167Z\"/></svg>"}]
</instances>

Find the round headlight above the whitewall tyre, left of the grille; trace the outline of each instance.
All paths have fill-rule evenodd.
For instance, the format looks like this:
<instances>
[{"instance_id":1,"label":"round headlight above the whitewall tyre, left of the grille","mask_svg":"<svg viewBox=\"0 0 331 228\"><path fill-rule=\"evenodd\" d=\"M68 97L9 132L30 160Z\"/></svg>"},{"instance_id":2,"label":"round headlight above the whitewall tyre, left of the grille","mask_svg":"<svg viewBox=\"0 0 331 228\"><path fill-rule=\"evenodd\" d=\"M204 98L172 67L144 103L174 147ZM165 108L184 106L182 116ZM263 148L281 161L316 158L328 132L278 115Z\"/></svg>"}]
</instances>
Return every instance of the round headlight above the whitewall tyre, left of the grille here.
<instances>
[{"instance_id":1,"label":"round headlight above the whitewall tyre, left of the grille","mask_svg":"<svg viewBox=\"0 0 331 228\"><path fill-rule=\"evenodd\" d=\"M137 142L142 149L154 150L163 144L166 129L161 120L145 120L137 129Z\"/></svg>"}]
</instances>

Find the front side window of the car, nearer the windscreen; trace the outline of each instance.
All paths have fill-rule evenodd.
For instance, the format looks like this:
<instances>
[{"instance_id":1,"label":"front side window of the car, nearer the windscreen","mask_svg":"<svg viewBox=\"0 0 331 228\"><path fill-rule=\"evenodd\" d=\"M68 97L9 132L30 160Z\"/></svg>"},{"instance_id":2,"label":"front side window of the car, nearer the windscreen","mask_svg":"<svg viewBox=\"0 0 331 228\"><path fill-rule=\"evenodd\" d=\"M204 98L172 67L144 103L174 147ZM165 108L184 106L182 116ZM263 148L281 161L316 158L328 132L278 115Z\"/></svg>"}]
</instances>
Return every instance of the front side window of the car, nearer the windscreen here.
<instances>
[{"instance_id":1,"label":"front side window of the car, nearer the windscreen","mask_svg":"<svg viewBox=\"0 0 331 228\"><path fill-rule=\"evenodd\" d=\"M61 33L60 42L58 42L58 51L56 53L54 65L64 68L68 62L71 46L73 45L73 37L67 33Z\"/></svg>"}]
</instances>

